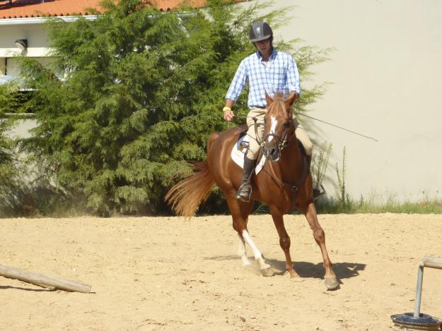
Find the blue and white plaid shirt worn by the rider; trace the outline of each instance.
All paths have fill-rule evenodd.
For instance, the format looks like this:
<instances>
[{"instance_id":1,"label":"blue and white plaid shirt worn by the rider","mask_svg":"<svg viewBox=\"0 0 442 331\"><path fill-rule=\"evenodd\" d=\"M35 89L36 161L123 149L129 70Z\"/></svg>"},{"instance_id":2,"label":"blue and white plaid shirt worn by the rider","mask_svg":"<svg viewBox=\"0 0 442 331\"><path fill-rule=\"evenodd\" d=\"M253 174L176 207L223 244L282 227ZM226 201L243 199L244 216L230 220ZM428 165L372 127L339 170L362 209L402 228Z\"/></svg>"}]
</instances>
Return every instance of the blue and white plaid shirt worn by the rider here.
<instances>
[{"instance_id":1,"label":"blue and white plaid shirt worn by the rider","mask_svg":"<svg viewBox=\"0 0 442 331\"><path fill-rule=\"evenodd\" d=\"M265 92L271 97L276 92L283 95L295 91L301 94L298 67L289 54L277 52L273 49L267 66L262 62L259 51L241 61L238 70L228 88L226 99L236 102L245 84L249 83L248 106L252 108L265 108Z\"/></svg>"}]
</instances>

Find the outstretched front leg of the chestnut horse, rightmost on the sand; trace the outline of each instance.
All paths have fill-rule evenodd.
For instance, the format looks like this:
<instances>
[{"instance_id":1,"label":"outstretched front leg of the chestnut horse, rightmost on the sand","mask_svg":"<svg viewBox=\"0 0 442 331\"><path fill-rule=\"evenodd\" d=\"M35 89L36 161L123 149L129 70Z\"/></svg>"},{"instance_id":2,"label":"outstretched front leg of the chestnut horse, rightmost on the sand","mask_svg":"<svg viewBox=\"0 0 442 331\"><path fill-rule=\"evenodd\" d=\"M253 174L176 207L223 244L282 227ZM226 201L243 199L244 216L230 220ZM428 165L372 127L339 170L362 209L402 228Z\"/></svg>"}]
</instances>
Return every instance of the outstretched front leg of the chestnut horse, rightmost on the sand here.
<instances>
[{"instance_id":1,"label":"outstretched front leg of the chestnut horse, rightmost on the sand","mask_svg":"<svg viewBox=\"0 0 442 331\"><path fill-rule=\"evenodd\" d=\"M325 233L318 222L315 204L309 203L307 207L303 207L301 210L304 215L306 215L310 229L313 231L315 241L321 249L323 265L325 267L325 287L327 287L327 289L336 289L339 286L339 281L332 269L332 261L330 261L330 258L328 257L327 248L325 247Z\"/></svg>"}]
</instances>

